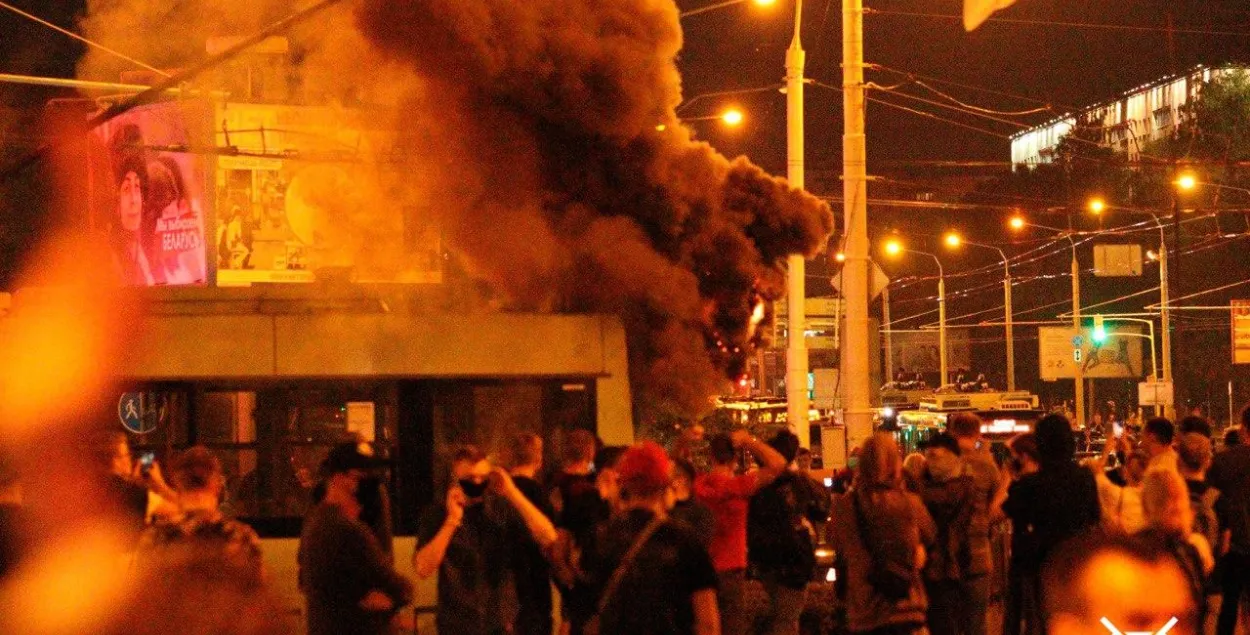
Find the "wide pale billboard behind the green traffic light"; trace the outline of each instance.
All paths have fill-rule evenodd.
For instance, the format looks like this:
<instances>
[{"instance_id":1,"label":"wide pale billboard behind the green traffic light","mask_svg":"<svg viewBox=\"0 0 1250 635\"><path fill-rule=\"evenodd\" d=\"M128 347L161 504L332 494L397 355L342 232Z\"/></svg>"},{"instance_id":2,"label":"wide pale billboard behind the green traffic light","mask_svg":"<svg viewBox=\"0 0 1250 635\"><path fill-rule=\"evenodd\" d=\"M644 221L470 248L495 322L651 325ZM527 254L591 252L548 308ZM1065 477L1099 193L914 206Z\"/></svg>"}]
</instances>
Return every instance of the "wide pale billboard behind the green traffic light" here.
<instances>
[{"instance_id":1,"label":"wide pale billboard behind the green traffic light","mask_svg":"<svg viewBox=\"0 0 1250 635\"><path fill-rule=\"evenodd\" d=\"M1076 364L1081 364L1086 379L1141 379L1148 371L1152 371L1148 368L1149 364L1142 362L1146 350L1142 344L1149 339L1141 326L1120 322L1112 325L1109 321L1106 339L1101 342L1094 341L1092 328L1081 329L1079 362L1075 361L1076 335L1078 331L1065 326L1038 329L1041 379L1075 379Z\"/></svg>"}]
</instances>

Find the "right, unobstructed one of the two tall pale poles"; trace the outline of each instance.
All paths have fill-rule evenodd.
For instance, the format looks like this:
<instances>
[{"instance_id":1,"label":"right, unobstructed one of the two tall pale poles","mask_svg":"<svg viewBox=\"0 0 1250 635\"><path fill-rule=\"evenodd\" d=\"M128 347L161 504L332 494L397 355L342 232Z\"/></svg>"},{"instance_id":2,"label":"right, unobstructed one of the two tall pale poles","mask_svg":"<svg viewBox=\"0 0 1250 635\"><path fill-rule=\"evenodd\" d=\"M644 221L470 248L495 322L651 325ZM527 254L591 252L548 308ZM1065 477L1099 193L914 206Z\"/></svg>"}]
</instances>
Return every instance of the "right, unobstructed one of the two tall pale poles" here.
<instances>
[{"instance_id":1,"label":"right, unobstructed one of the two tall pale poles","mask_svg":"<svg viewBox=\"0 0 1250 635\"><path fill-rule=\"evenodd\" d=\"M872 435L869 386L868 146L864 135L864 0L842 0L842 198L846 350L840 379L849 448Z\"/></svg>"}]
</instances>

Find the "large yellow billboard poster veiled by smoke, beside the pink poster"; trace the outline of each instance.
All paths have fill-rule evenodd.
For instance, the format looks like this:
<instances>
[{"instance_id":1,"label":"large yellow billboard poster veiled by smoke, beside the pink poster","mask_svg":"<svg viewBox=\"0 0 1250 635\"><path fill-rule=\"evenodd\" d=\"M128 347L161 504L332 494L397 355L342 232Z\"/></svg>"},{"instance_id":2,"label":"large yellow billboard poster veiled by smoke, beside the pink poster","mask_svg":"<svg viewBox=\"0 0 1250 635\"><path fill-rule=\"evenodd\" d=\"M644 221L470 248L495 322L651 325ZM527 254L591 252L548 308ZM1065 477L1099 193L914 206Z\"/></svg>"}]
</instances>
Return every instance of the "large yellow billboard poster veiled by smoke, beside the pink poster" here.
<instances>
[{"instance_id":1,"label":"large yellow billboard poster veiled by smoke, beside the pink poster","mask_svg":"<svg viewBox=\"0 0 1250 635\"><path fill-rule=\"evenodd\" d=\"M350 111L219 106L216 280L221 286L312 282L338 270L358 282L442 281L429 206L398 191L382 135ZM408 201L408 202L401 202Z\"/></svg>"}]
</instances>

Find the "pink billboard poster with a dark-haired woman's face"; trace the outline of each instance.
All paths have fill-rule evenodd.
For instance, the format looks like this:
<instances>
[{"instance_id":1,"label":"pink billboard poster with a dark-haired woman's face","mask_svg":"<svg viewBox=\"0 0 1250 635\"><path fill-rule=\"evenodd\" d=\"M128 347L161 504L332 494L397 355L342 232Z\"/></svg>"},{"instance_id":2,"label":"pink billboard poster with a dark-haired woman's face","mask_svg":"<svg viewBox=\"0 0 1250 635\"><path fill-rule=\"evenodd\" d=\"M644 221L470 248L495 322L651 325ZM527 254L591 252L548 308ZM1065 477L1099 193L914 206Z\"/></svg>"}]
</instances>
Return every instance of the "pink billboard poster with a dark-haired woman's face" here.
<instances>
[{"instance_id":1,"label":"pink billboard poster with a dark-haired woman's face","mask_svg":"<svg viewBox=\"0 0 1250 635\"><path fill-rule=\"evenodd\" d=\"M205 110L165 102L126 112L94 130L91 225L109 241L121 284L208 281L204 214L208 162L189 149Z\"/></svg>"}]
</instances>

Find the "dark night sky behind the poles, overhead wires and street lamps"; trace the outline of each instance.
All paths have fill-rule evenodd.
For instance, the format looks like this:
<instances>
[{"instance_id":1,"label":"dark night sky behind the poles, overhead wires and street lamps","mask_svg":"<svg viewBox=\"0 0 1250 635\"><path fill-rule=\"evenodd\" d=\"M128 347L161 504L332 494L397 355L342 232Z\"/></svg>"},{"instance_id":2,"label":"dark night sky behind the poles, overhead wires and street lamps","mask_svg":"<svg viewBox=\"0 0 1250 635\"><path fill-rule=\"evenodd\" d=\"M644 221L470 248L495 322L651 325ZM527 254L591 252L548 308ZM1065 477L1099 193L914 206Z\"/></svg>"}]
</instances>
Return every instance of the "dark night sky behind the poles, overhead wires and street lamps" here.
<instances>
[{"instance_id":1,"label":"dark night sky behind the poles, overhead wires and street lamps","mask_svg":"<svg viewBox=\"0 0 1250 635\"><path fill-rule=\"evenodd\" d=\"M65 26L71 26L74 15L82 10L81 0L9 1ZM680 0L679 5L689 10L711 1L714 0ZM806 0L804 8L802 41L808 50L808 76L832 85L841 82L840 4L835 0ZM882 11L870 12L865 18L865 59L869 64L1038 100L1052 105L1054 114L1111 98L1122 90L1195 64L1250 62L1250 5L1245 0L1019 0L1015 6L996 14L996 18L1041 22L1108 24L1135 30L1061 24L1008 24L991 20L972 34L965 32L956 19L889 14L889 11L902 11L956 16L961 8L959 0L872 0L868 5L870 9ZM744 4L685 19L682 26L686 45L679 64L688 99L714 91L759 89L780 84L784 76L785 49L794 28L792 15L792 4L779 0L771 8ZM1230 31L1238 35L1175 32L1170 36L1165 29L1169 21L1178 31ZM2 34L0 36L2 72L71 76L74 62L81 54L80 45L68 38L5 11L0 11L0 34ZM901 81L904 76L888 71L869 71L868 79L881 85L891 85ZM1038 101L950 84L932 85L965 102L988 109L1016 111L1039 106ZM914 86L902 90L932 98ZM0 85L0 131L9 128L5 124L11 124L20 114L20 109L38 108L48 96L49 92L42 90ZM869 171L874 175L896 174L918 161L1005 162L1009 159L1010 145L1004 136L1051 116L1048 112L1004 118L1019 122L1011 125L970 118L898 95L874 92L871 96L939 114L992 132L972 131L872 104L868 111L868 130ZM748 121L742 128L726 130L716 121L691 125L696 126L702 139L724 154L730 156L745 154L766 170L784 174L785 98L781 94L770 90L736 98L702 99L684 109L681 115L686 118L714 115L730 102L740 105L746 111ZM19 111L11 110L14 106L18 106ZM5 108L8 110L4 110ZM815 180L811 175L835 174L840 170L841 116L841 95L838 91L820 86L808 89L809 184ZM29 139L20 135L8 136L4 144L6 152L0 156L12 156L14 148L28 141ZM970 175L986 174L985 168L968 170ZM832 182L836 184L836 180ZM872 190L870 195L875 195ZM28 235L25 228L32 220L15 216L20 211L9 205L5 211L6 218L0 224L0 251L2 251L0 259L5 259L4 268L0 269L6 271L11 271L10 258L22 242L22 236ZM840 219L840 204L835 204L835 211ZM1001 231L1002 221L1001 215L984 211L891 215L870 210L872 225L870 231L875 234L892 228L918 235L926 232L931 235L940 231L941 226L951 225L975 232L982 236L984 241L1005 242L1010 239ZM1008 245L1008 249L1010 254L1020 248ZM1231 251L1230 248L1224 250ZM1219 251L1208 250L1206 254ZM1084 258L1090 258L1088 251ZM1200 258L1191 264L1194 285L1200 281L1218 284L1248 276L1244 266L1230 269L1224 268L1219 259L1204 262ZM1220 258L1228 259L1228 256ZM968 252L951 256L948 270L990 265L994 260L988 254ZM1231 261L1239 262L1238 258L1232 258ZM1034 265L1032 272L1061 272L1065 265L1066 256L1060 252L1054 259ZM889 264L886 270L895 278L926 274L924 268L928 265L918 264L915 270L910 266ZM1194 270L1202 275L1195 274ZM825 261L818 261L811 266L811 271L814 276L811 289L815 291L828 289L824 276L832 269L826 266ZM1149 270L1146 276L1138 280L1090 281L1088 294L1091 299L1110 298L1146 288L1151 284L1151 275L1154 272ZM951 291L985 286L992 280L992 276L980 276L952 282ZM1068 285L1066 278L1026 285L1018 295L1018 309L1025 310L1061 299ZM916 284L909 289L910 291L900 292L896 316L932 306L929 299L932 294L931 284ZM912 295L909 296L909 292ZM1250 296L1248 288L1242 288L1241 292L1242 296ZM981 291L952 301L951 314L992 308L995 301L999 301L999 296L992 289ZM1140 309L1140 304L1122 309ZM1052 314L1034 315L1052 316ZM1208 346L1224 346L1226 350L1226 322L1220 328L1210 322L1209 318L1211 316L1202 318L1206 321L1191 319L1190 326L1194 332L1190 336L1206 338L1195 340L1194 348L1205 350ZM974 338L992 339L996 332L1001 331L990 332L982 329L978 330ZM1031 346L1024 342L1018 348L1028 350ZM994 346L984 349L986 356L998 354ZM1226 355L1226 352L1215 354ZM1019 364L1021 371L1036 372L1035 359L1024 355ZM1226 379L1222 375L1204 378L1215 386ZM1021 376L1021 381L1029 381L1029 372ZM1208 398L1220 401L1219 394Z\"/></svg>"}]
</instances>

